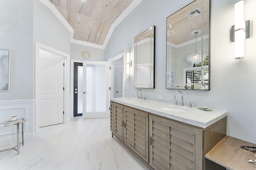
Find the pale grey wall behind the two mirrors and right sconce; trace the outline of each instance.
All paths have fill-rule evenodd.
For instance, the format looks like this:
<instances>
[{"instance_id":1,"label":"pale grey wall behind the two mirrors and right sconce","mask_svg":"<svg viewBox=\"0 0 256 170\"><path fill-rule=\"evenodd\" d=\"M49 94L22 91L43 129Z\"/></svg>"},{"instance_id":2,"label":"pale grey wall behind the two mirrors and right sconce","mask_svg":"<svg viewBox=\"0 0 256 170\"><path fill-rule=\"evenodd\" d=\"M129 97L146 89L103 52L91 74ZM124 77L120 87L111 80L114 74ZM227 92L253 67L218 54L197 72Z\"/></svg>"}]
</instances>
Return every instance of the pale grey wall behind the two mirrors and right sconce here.
<instances>
[{"instance_id":1,"label":"pale grey wall behind the two mirrors and right sconce","mask_svg":"<svg viewBox=\"0 0 256 170\"><path fill-rule=\"evenodd\" d=\"M230 28L234 25L234 3L237 0L212 0L211 8L211 90L182 90L184 103L196 102L194 106L208 106L212 109L228 111L227 134L239 139L256 143L255 126L255 90L256 79L256 37L251 36L245 42L245 58L234 59L234 43L230 42ZM162 95L164 102L172 102L176 90L167 90L166 75L166 18L190 3L191 0L143 0L115 28L105 49L106 61L123 51L130 51L133 58L134 37L152 25L156 26L156 72L155 89L142 89L143 95L157 100ZM255 0L244 2L244 19L256 21ZM256 33L252 27L251 33ZM251 34L251 35L252 35ZM134 76L126 75L130 90L126 96L136 96L133 87ZM178 97L180 99L180 97ZM207 113L206 113L207 114Z\"/></svg>"}]
</instances>

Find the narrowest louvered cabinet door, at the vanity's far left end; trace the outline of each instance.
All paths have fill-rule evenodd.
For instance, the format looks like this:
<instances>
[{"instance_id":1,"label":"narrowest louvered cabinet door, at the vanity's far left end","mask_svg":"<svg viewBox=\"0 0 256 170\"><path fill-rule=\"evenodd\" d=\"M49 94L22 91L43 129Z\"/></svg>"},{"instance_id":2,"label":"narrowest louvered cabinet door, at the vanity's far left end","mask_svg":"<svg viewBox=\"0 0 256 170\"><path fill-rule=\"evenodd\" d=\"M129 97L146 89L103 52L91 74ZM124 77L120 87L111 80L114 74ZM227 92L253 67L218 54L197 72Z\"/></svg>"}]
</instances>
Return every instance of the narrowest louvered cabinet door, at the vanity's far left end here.
<instances>
[{"instance_id":1,"label":"narrowest louvered cabinet door, at the vanity's far left end","mask_svg":"<svg viewBox=\"0 0 256 170\"><path fill-rule=\"evenodd\" d=\"M110 102L110 105L110 131L124 141L124 106L114 102Z\"/></svg>"}]
</instances>

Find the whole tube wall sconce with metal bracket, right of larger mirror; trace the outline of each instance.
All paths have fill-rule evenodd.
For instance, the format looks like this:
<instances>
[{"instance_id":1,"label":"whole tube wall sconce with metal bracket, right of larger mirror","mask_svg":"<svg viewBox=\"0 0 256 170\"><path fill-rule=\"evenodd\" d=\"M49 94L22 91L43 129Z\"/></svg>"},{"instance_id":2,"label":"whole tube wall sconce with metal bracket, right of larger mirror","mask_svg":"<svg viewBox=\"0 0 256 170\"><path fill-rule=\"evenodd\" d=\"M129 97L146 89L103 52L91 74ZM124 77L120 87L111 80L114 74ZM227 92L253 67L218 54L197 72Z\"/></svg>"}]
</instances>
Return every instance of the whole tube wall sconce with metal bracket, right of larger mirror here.
<instances>
[{"instance_id":1,"label":"whole tube wall sconce with metal bracket, right of larger mirror","mask_svg":"<svg viewBox=\"0 0 256 170\"><path fill-rule=\"evenodd\" d=\"M244 21L244 0L235 3L235 25L231 28L231 41L235 41L235 59L244 58L244 39L250 38L250 20Z\"/></svg>"}]
</instances>

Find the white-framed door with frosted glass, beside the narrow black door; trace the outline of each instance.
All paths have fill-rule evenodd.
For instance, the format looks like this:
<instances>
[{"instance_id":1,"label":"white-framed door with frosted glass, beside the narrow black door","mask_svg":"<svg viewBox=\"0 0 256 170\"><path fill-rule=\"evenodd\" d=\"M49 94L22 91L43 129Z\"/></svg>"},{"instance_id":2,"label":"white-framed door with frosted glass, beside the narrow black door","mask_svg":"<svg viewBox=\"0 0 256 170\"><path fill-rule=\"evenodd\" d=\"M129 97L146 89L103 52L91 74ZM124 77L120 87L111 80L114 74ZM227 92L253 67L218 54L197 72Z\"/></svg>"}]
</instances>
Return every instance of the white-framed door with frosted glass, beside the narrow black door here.
<instances>
[{"instance_id":1,"label":"white-framed door with frosted glass, beside the narrow black door","mask_svg":"<svg viewBox=\"0 0 256 170\"><path fill-rule=\"evenodd\" d=\"M83 61L83 118L109 117L109 62Z\"/></svg>"}]
</instances>

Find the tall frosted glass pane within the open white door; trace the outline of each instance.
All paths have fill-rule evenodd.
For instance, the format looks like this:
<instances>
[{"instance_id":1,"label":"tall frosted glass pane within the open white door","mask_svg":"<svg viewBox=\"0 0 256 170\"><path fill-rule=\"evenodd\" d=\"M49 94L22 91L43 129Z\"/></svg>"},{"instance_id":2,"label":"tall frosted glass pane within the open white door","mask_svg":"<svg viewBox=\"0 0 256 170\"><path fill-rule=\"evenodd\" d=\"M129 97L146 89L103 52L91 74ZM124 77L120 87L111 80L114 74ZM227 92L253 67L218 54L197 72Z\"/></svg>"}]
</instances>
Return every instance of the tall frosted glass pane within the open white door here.
<instances>
[{"instance_id":1,"label":"tall frosted glass pane within the open white door","mask_svg":"<svg viewBox=\"0 0 256 170\"><path fill-rule=\"evenodd\" d=\"M106 65L86 66L86 112L106 111Z\"/></svg>"}]
</instances>

